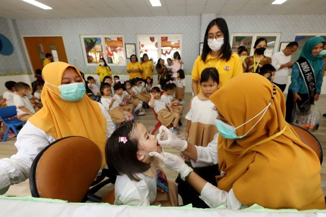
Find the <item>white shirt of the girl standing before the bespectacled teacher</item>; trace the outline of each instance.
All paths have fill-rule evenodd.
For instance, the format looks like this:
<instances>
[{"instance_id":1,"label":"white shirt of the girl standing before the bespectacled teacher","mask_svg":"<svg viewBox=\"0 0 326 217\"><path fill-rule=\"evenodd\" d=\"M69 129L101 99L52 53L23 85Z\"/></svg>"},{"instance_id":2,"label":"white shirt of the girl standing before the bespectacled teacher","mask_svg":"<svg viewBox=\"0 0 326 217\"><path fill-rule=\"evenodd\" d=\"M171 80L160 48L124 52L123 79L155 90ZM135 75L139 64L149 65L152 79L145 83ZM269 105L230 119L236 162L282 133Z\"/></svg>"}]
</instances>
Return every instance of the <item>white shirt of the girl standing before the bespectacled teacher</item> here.
<instances>
[{"instance_id":1,"label":"white shirt of the girl standing before the bespectacled teacher","mask_svg":"<svg viewBox=\"0 0 326 217\"><path fill-rule=\"evenodd\" d=\"M215 105L210 99L200 100L198 96L195 96L191 102L191 109L185 118L191 122L215 125L215 118L218 114L213 110L213 107Z\"/></svg>"}]
</instances>

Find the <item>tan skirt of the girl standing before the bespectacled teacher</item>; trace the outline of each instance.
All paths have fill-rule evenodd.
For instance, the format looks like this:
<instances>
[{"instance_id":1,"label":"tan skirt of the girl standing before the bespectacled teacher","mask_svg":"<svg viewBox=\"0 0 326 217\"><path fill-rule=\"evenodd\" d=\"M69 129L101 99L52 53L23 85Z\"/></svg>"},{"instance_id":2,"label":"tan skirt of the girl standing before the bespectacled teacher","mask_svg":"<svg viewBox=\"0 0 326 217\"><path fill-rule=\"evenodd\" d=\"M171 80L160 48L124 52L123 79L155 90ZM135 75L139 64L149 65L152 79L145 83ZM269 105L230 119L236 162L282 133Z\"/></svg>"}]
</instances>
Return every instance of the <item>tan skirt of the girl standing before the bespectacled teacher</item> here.
<instances>
[{"instance_id":1,"label":"tan skirt of the girl standing before the bespectacled teacher","mask_svg":"<svg viewBox=\"0 0 326 217\"><path fill-rule=\"evenodd\" d=\"M192 122L189 130L188 142L197 146L206 147L208 143L214 139L216 133L216 126L213 124Z\"/></svg>"}]
</instances>

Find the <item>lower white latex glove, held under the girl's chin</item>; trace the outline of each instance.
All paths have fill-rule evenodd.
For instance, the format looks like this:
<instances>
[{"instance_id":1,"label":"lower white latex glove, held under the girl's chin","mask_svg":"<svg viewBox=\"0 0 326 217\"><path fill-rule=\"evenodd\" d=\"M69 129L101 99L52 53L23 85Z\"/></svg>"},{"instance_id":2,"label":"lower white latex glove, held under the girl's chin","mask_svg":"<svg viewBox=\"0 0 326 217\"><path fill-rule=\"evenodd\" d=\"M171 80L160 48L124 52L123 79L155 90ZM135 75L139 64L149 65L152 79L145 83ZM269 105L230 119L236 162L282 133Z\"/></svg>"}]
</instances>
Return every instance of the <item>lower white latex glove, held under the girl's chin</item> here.
<instances>
[{"instance_id":1,"label":"lower white latex glove, held under the girl's chin","mask_svg":"<svg viewBox=\"0 0 326 217\"><path fill-rule=\"evenodd\" d=\"M157 152L150 152L150 156L155 156L159 158L165 168L174 170L180 173L181 179L185 181L185 177L193 171L191 167L185 164L185 161L176 155L172 155L171 153L157 153Z\"/></svg>"}]
</instances>

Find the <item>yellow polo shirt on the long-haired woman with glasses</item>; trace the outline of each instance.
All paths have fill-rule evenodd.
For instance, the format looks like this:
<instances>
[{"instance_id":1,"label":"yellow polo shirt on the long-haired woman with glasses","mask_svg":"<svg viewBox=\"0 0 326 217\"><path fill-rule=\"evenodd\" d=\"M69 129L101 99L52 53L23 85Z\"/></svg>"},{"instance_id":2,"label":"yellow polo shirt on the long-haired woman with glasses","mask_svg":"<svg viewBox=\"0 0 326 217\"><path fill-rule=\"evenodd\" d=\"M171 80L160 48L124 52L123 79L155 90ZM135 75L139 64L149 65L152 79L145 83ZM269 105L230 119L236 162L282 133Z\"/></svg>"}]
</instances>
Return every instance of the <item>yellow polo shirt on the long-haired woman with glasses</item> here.
<instances>
[{"instance_id":1,"label":"yellow polo shirt on the long-haired woman with glasses","mask_svg":"<svg viewBox=\"0 0 326 217\"><path fill-rule=\"evenodd\" d=\"M192 73L191 73L192 79L196 81L200 81L201 72L205 68L215 67L218 61L219 58L214 58L211 56L211 54L207 55L205 62L201 60L201 56L198 56L192 68ZM211 64L211 66L209 66L209 63ZM217 71L220 78L220 87L222 87L223 84L225 84L228 80L230 80L234 76L242 74L243 73L242 62L238 54L232 53L229 61L221 60L220 64L217 67ZM200 84L199 84L198 93L201 93Z\"/></svg>"}]
</instances>

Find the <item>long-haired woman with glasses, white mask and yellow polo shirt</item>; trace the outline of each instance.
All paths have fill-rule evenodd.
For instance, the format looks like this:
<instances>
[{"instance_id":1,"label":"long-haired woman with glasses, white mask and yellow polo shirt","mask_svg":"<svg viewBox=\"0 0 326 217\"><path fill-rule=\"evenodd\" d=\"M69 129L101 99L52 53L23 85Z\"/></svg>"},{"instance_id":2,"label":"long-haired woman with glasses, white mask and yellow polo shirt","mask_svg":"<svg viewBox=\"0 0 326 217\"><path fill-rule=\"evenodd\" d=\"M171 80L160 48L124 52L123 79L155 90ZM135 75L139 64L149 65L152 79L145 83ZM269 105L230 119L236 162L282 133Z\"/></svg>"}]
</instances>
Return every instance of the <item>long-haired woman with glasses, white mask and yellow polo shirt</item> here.
<instances>
[{"instance_id":1,"label":"long-haired woman with glasses, white mask and yellow polo shirt","mask_svg":"<svg viewBox=\"0 0 326 217\"><path fill-rule=\"evenodd\" d=\"M217 18L208 24L202 54L194 62L191 77L195 96L201 92L201 72L208 67L217 69L220 87L234 76L243 73L240 57L231 51L229 29L223 18Z\"/></svg>"}]
</instances>

